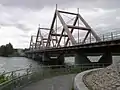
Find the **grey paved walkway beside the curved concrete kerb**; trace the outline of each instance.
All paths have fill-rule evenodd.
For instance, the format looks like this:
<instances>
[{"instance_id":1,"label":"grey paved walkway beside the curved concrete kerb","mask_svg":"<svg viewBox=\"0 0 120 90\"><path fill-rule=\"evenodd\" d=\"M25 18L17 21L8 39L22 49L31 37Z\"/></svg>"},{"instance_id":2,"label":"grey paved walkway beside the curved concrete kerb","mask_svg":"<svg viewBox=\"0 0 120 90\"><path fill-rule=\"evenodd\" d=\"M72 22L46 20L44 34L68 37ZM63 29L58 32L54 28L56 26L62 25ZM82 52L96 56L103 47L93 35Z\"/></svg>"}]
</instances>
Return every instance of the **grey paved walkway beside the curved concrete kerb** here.
<instances>
[{"instance_id":1,"label":"grey paved walkway beside the curved concrete kerb","mask_svg":"<svg viewBox=\"0 0 120 90\"><path fill-rule=\"evenodd\" d=\"M56 76L31 84L22 90L71 90L75 74Z\"/></svg>"}]
</instances>

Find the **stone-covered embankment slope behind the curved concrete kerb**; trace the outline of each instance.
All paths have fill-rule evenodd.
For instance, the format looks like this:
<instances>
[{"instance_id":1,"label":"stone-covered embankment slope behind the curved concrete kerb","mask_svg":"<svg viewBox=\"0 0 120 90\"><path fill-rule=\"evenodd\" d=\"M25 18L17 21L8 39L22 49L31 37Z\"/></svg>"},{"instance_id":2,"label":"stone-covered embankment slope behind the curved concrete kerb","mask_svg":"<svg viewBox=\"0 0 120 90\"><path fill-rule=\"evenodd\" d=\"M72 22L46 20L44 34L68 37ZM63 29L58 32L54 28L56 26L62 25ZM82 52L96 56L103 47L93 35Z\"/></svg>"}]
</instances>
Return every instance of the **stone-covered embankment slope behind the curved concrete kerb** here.
<instances>
[{"instance_id":1,"label":"stone-covered embankment slope behind the curved concrete kerb","mask_svg":"<svg viewBox=\"0 0 120 90\"><path fill-rule=\"evenodd\" d=\"M85 75L85 83L91 90L120 90L120 65L89 72Z\"/></svg>"}]
</instances>

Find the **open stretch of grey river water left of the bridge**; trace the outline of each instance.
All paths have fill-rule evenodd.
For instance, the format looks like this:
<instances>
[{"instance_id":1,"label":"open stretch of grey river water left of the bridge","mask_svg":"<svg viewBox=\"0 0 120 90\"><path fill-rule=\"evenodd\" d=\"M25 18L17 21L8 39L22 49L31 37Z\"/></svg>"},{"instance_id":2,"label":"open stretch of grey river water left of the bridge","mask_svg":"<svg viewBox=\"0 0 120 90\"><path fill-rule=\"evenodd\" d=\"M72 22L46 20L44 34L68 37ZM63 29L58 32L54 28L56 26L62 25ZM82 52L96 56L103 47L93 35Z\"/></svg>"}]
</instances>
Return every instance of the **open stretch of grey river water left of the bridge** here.
<instances>
[{"instance_id":1,"label":"open stretch of grey river water left of the bridge","mask_svg":"<svg viewBox=\"0 0 120 90\"><path fill-rule=\"evenodd\" d=\"M37 67L40 64L25 57L0 57L0 72L28 68L30 65Z\"/></svg>"}]
</instances>

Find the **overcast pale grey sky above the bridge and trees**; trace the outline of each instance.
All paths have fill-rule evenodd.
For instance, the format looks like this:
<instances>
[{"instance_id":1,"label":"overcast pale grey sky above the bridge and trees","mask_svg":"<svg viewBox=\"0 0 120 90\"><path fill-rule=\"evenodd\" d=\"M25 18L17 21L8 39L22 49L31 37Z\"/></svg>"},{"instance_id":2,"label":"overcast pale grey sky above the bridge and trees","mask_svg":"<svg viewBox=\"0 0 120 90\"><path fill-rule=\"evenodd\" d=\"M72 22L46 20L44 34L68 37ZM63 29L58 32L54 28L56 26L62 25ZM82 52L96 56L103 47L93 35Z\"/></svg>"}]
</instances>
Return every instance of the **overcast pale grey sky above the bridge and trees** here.
<instances>
[{"instance_id":1,"label":"overcast pale grey sky above the bridge and trees","mask_svg":"<svg viewBox=\"0 0 120 90\"><path fill-rule=\"evenodd\" d=\"M58 9L77 12L97 33L120 28L120 0L0 0L0 45L28 48L38 25L50 28L55 4Z\"/></svg>"}]
</instances>

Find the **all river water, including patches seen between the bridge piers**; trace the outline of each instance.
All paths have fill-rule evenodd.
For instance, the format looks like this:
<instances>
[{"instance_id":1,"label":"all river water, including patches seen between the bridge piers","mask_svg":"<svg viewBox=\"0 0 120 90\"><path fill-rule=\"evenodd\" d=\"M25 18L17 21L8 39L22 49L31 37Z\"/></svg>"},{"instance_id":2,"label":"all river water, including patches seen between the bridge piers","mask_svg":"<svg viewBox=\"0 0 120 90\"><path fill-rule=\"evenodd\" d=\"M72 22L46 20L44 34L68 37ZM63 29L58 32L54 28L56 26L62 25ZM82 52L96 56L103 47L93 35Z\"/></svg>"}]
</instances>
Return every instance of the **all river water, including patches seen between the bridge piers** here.
<instances>
[{"instance_id":1,"label":"all river water, including patches seen between the bridge piers","mask_svg":"<svg viewBox=\"0 0 120 90\"><path fill-rule=\"evenodd\" d=\"M89 59L93 61L97 61L98 58L99 57L89 57ZM118 62L120 62L120 56L113 56L113 63ZM74 57L65 58L65 63L74 64ZM32 65L32 67L38 67L40 63L25 57L0 57L0 73L28 68L30 65Z\"/></svg>"}]
</instances>

